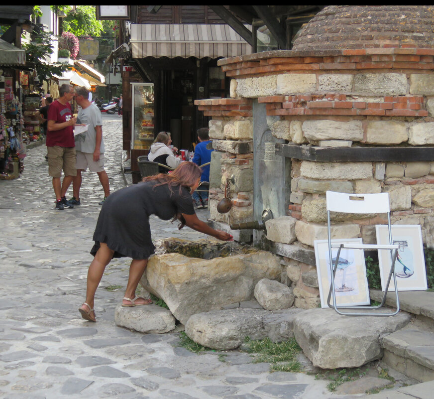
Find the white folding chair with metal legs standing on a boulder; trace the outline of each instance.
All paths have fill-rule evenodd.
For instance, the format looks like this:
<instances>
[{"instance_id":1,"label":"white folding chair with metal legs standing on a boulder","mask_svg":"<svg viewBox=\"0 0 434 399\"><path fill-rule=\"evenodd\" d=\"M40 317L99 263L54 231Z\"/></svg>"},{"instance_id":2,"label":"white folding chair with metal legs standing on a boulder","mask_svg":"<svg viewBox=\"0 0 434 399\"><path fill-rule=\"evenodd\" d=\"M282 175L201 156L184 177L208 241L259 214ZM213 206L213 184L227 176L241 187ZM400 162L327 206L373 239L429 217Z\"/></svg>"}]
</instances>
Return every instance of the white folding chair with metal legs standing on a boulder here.
<instances>
[{"instance_id":1,"label":"white folding chair with metal legs standing on a boulder","mask_svg":"<svg viewBox=\"0 0 434 399\"><path fill-rule=\"evenodd\" d=\"M329 307L333 307L334 310L345 316L394 316L399 312L399 298L398 298L398 286L396 283L395 275L395 261L398 255L398 245L392 244L392 229L390 226L390 205L389 205L389 194L379 193L379 194L347 194L347 193L336 193L333 191L327 191L325 193L326 199L326 209L327 209L327 240L328 240L328 256L329 256L329 266L331 275L330 290L328 292L327 304ZM331 243L331 226L330 226L330 212L338 213L353 213L353 214L378 214L387 213L387 225L389 228L389 245L380 244L337 244ZM338 248L336 259L333 263L331 249ZM339 262L340 251L343 248L347 249L358 249L364 250L390 250L391 255L391 266L389 271L389 277L387 278L387 283L381 303L377 306L338 306L336 304L336 293L334 286L334 277L336 275L336 269ZM393 283L395 284L395 295L396 295L396 310L393 312L382 312L376 311L380 309L386 303L386 295L389 288L390 280L393 276ZM330 304L330 299L332 303ZM365 312L351 312L345 311L341 312L339 309L368 309Z\"/></svg>"}]
</instances>

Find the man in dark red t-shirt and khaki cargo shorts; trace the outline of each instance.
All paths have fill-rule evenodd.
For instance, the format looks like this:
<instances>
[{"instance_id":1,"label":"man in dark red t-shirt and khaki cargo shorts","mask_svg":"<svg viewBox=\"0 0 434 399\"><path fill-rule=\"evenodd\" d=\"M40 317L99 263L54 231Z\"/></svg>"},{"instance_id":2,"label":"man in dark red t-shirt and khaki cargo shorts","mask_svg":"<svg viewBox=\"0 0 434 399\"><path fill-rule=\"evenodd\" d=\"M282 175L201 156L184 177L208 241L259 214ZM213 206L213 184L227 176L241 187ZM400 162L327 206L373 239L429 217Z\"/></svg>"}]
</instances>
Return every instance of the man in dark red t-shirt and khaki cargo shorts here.
<instances>
[{"instance_id":1,"label":"man in dark red t-shirt and khaki cargo shorts","mask_svg":"<svg viewBox=\"0 0 434 399\"><path fill-rule=\"evenodd\" d=\"M74 208L74 205L66 199L66 191L73 177L77 175L74 140L74 125L77 118L73 117L69 104L73 97L74 88L71 85L62 85L59 88L59 98L53 101L48 109L46 138L48 174L53 178L56 210L59 211L63 211L64 207ZM65 177L61 185L62 169Z\"/></svg>"}]
</instances>

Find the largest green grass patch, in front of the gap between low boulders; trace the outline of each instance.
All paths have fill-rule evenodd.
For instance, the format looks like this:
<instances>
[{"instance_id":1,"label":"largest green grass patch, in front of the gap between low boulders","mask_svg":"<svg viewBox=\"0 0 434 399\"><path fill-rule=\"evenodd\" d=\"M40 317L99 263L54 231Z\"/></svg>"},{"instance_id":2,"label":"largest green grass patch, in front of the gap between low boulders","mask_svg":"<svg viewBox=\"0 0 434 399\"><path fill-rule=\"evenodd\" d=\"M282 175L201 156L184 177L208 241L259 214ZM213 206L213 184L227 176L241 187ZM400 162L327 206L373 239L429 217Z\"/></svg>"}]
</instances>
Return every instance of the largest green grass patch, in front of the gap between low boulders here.
<instances>
[{"instance_id":1,"label":"largest green grass patch, in front of the gap between low boulders","mask_svg":"<svg viewBox=\"0 0 434 399\"><path fill-rule=\"evenodd\" d=\"M295 338L284 342L271 342L270 338L252 340L246 337L245 350L249 353L254 363L271 363L270 371L300 372L302 365L297 360L301 348Z\"/></svg>"}]
</instances>

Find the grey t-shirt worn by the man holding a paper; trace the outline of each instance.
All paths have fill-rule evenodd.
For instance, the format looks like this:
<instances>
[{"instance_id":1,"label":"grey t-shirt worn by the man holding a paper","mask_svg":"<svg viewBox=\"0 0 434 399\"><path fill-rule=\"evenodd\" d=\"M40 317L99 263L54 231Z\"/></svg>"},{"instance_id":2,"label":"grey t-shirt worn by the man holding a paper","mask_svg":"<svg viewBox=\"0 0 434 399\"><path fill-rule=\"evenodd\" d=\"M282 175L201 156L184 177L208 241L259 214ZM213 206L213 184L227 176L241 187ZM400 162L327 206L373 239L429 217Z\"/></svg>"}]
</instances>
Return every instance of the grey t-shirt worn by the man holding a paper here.
<instances>
[{"instance_id":1,"label":"grey t-shirt worn by the man holding a paper","mask_svg":"<svg viewBox=\"0 0 434 399\"><path fill-rule=\"evenodd\" d=\"M95 139L97 135L95 127L103 125L101 111L94 104L91 104L85 109L80 109L77 116L77 124L85 124L89 126L87 132L75 136L76 151L86 152L89 154L94 153ZM104 138L101 138L100 153L104 154Z\"/></svg>"}]
</instances>

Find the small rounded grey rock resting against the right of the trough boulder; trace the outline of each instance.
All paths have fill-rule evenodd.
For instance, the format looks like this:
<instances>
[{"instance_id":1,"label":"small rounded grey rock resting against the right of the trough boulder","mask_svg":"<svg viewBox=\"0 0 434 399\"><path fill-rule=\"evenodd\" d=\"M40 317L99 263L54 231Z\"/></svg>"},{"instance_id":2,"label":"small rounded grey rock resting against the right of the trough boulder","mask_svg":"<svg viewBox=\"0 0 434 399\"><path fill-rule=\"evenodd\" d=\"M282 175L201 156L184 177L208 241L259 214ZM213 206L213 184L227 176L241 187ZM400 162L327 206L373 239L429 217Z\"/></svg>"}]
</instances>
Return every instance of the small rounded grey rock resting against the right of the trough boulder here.
<instances>
[{"instance_id":1,"label":"small rounded grey rock resting against the right of the trough boulder","mask_svg":"<svg viewBox=\"0 0 434 399\"><path fill-rule=\"evenodd\" d=\"M294 303L291 288L268 278L259 280L253 293L258 303L267 310L287 309Z\"/></svg>"}]
</instances>

